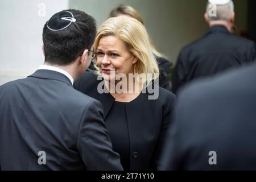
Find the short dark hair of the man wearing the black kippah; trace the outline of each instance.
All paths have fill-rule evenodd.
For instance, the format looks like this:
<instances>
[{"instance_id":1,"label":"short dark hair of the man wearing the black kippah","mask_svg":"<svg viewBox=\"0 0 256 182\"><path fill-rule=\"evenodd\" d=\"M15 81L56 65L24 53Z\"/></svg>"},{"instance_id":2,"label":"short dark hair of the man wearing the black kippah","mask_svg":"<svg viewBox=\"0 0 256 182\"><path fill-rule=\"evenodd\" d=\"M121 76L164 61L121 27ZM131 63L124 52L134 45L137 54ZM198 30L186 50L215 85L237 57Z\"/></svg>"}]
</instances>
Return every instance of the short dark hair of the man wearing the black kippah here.
<instances>
[{"instance_id":1,"label":"short dark hair of the man wearing the black kippah","mask_svg":"<svg viewBox=\"0 0 256 182\"><path fill-rule=\"evenodd\" d=\"M92 47L96 36L95 19L79 10L65 10L73 14L76 22L60 31L43 29L45 61L53 65L69 65L85 50Z\"/></svg>"}]
</instances>

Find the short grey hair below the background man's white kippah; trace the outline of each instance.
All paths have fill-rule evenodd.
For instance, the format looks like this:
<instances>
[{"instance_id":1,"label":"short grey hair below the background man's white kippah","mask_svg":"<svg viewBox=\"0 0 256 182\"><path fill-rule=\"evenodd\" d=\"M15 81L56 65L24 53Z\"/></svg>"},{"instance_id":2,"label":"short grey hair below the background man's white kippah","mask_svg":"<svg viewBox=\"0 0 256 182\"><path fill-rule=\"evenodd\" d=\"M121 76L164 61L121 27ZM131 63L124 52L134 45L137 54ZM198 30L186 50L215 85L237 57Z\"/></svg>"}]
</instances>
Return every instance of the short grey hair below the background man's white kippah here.
<instances>
[{"instance_id":1,"label":"short grey hair below the background man's white kippah","mask_svg":"<svg viewBox=\"0 0 256 182\"><path fill-rule=\"evenodd\" d=\"M209 2L207 3L206 13L208 15L209 22L216 20L229 22L233 12L234 3L232 0L226 5L213 5Z\"/></svg>"}]
</instances>

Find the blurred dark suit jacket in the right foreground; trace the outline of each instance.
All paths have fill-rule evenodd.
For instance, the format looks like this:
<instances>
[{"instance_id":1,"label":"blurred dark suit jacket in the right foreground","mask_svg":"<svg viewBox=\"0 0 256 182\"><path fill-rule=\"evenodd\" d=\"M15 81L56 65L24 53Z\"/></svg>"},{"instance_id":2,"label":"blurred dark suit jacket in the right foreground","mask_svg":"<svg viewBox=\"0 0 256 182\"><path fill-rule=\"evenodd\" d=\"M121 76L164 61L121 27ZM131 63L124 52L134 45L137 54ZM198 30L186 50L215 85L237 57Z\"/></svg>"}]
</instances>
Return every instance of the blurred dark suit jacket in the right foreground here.
<instances>
[{"instance_id":1,"label":"blurred dark suit jacket in the right foreground","mask_svg":"<svg viewBox=\"0 0 256 182\"><path fill-rule=\"evenodd\" d=\"M255 170L255 78L256 64L181 89L161 169Z\"/></svg>"}]
</instances>

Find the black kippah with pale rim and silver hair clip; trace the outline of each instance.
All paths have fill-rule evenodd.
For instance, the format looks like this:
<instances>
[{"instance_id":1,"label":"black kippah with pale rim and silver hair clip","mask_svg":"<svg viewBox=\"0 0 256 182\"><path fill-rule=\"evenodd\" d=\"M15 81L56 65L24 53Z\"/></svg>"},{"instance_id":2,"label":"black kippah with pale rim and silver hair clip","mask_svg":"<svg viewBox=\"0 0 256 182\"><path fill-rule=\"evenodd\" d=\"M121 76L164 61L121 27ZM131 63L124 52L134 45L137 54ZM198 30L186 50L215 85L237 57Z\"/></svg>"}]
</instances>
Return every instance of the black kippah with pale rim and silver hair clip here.
<instances>
[{"instance_id":1,"label":"black kippah with pale rim and silver hair clip","mask_svg":"<svg viewBox=\"0 0 256 182\"><path fill-rule=\"evenodd\" d=\"M47 28L52 31L60 31L70 26L72 22L75 23L76 19L71 12L60 11L48 20Z\"/></svg>"}]
</instances>

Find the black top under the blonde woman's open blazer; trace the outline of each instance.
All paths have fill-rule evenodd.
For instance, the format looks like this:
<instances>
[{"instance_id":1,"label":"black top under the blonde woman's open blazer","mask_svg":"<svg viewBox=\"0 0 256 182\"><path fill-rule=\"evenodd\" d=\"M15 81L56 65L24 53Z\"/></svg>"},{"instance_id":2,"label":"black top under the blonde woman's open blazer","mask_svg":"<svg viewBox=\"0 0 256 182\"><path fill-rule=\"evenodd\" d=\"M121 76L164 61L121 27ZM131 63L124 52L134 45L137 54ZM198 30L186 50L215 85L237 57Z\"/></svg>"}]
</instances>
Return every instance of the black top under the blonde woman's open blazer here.
<instances>
[{"instance_id":1,"label":"black top under the blonde woman's open blazer","mask_svg":"<svg viewBox=\"0 0 256 182\"><path fill-rule=\"evenodd\" d=\"M106 115L105 123L112 140L113 150L118 152L125 171L130 170L130 139L126 117L125 102L114 102L112 110Z\"/></svg>"}]
</instances>

